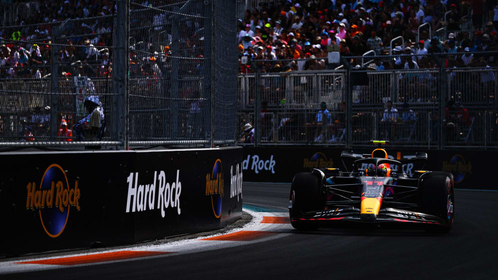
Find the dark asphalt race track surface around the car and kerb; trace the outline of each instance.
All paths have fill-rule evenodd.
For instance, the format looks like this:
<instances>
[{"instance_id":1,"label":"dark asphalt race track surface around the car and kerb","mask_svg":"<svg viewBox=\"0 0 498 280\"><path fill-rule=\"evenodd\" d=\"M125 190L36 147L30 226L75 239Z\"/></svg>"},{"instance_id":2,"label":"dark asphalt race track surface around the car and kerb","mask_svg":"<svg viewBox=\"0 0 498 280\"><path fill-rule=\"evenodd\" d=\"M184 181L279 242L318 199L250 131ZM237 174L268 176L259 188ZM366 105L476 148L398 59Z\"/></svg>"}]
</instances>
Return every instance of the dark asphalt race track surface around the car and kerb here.
<instances>
[{"instance_id":1,"label":"dark asphalt race track surface around the car and kerb","mask_svg":"<svg viewBox=\"0 0 498 280\"><path fill-rule=\"evenodd\" d=\"M286 212L289 184L244 183L244 207ZM1 279L496 279L498 192L456 190L449 234L332 227L195 254L1 275Z\"/></svg>"}]
</instances>

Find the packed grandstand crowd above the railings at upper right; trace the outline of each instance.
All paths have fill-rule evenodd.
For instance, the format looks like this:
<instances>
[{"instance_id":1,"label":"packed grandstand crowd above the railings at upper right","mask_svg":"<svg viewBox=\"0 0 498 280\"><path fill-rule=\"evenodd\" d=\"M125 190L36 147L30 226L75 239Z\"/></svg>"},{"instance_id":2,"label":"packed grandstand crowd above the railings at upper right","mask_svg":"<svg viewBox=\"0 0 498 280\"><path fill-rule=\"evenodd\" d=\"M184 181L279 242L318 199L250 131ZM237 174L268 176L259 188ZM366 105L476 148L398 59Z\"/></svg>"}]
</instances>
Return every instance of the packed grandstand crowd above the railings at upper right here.
<instances>
[{"instance_id":1,"label":"packed grandstand crowd above the railings at upper right","mask_svg":"<svg viewBox=\"0 0 498 280\"><path fill-rule=\"evenodd\" d=\"M472 28L462 27L467 19ZM425 23L432 32L425 26L419 36ZM444 39L435 35L442 27ZM281 0L245 11L238 22L238 47L240 57L273 60L259 66L262 72L321 70L338 66L328 63L329 51L388 54L391 40L402 36L404 44L398 40L392 54L413 56L379 59L372 67L486 67L496 65L495 54L471 53L496 51L497 27L496 0ZM448 53L441 56L444 65L437 65L432 53ZM350 62L356 65L360 59ZM242 73L254 71L251 63L240 66Z\"/></svg>"}]
</instances>

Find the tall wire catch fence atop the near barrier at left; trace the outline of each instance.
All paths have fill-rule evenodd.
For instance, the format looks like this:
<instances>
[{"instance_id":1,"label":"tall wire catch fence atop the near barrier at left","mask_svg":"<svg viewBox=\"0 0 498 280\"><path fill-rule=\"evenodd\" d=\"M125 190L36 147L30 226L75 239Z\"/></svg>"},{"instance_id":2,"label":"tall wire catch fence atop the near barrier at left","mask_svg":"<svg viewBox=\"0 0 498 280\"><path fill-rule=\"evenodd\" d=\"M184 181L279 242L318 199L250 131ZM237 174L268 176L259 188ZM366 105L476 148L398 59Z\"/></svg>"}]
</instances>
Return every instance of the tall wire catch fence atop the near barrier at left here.
<instances>
[{"instance_id":1,"label":"tall wire catch fence atop the near barrier at left","mask_svg":"<svg viewBox=\"0 0 498 280\"><path fill-rule=\"evenodd\" d=\"M2 21L0 146L234 143L235 2L67 2Z\"/></svg>"}]
</instances>

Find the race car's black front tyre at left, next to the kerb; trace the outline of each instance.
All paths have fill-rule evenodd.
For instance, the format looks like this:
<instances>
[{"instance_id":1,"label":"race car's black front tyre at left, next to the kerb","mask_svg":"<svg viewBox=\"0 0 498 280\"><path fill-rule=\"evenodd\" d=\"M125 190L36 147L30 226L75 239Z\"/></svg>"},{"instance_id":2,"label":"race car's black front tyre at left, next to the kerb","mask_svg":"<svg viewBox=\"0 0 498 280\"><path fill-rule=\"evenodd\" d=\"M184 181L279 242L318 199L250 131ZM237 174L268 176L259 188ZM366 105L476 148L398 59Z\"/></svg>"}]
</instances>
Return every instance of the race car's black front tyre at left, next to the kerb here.
<instances>
[{"instance_id":1,"label":"race car's black front tyre at left, next to the kerb","mask_svg":"<svg viewBox=\"0 0 498 280\"><path fill-rule=\"evenodd\" d=\"M291 225L299 230L317 229L317 221L295 220L302 217L303 213L322 209L324 200L321 195L321 180L312 173L298 173L292 180L289 200L292 208L289 209ZM293 221L294 219L294 221Z\"/></svg>"}]
</instances>

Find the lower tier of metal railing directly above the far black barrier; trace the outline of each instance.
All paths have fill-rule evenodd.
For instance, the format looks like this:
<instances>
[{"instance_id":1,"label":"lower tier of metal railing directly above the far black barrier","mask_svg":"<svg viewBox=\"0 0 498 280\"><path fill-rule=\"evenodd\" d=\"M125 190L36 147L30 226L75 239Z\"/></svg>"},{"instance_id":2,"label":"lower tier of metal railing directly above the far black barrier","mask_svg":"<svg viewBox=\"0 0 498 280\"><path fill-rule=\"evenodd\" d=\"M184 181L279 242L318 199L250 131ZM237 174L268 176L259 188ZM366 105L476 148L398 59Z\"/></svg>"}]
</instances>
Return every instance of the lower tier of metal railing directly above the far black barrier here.
<instances>
[{"instance_id":1,"label":"lower tier of metal railing directly above the far black barrier","mask_svg":"<svg viewBox=\"0 0 498 280\"><path fill-rule=\"evenodd\" d=\"M341 109L272 108L261 113L258 145L363 146L369 140L390 140L400 147L498 148L498 110L467 110L455 107L440 114L437 110L403 108L365 110L353 107L347 117ZM441 120L440 116L444 119ZM250 111L238 112L239 124L254 120ZM348 139L347 123L351 123ZM241 126L242 127L242 126ZM237 143L253 145L241 132Z\"/></svg>"}]
</instances>

